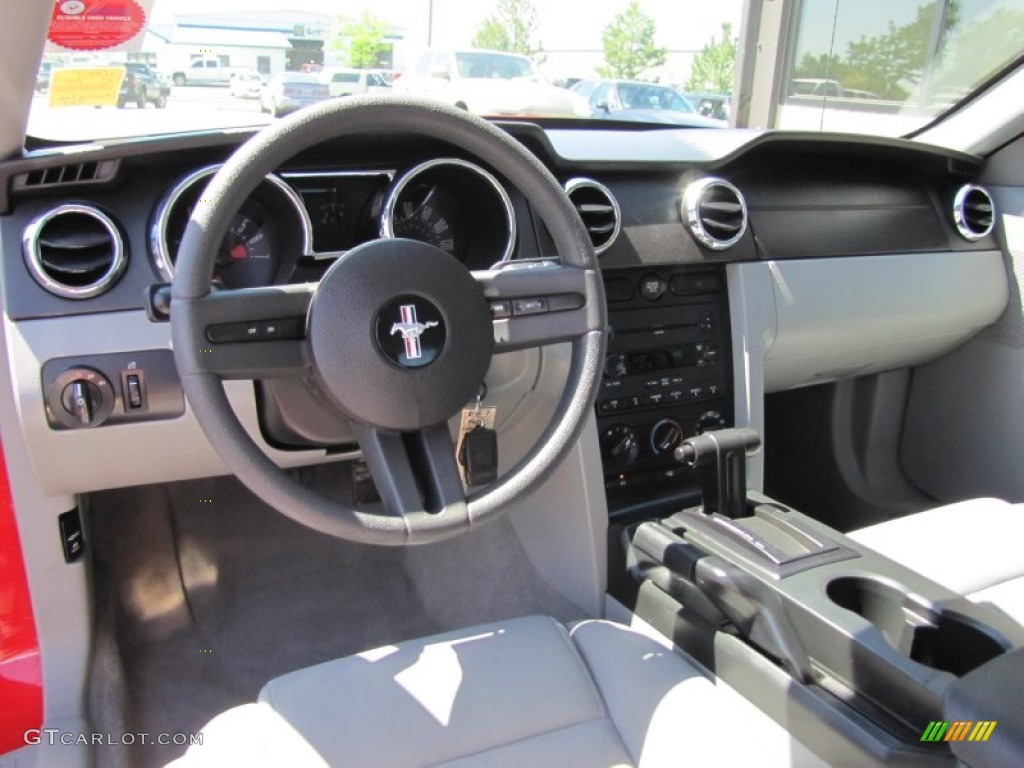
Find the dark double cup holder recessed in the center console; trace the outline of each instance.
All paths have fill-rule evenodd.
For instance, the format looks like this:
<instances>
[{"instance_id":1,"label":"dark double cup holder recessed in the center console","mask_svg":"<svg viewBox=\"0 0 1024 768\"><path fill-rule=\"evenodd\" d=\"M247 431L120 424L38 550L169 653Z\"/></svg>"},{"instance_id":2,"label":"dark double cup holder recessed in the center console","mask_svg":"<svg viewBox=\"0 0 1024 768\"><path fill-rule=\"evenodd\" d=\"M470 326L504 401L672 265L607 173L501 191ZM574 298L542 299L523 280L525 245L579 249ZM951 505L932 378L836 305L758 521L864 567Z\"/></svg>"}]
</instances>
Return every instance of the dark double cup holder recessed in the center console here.
<instances>
[{"instance_id":1,"label":"dark double cup holder recessed in the center console","mask_svg":"<svg viewBox=\"0 0 1024 768\"><path fill-rule=\"evenodd\" d=\"M834 603L866 618L897 651L932 669L966 675L1009 648L984 625L929 607L891 582L840 577L826 592Z\"/></svg>"}]
</instances>

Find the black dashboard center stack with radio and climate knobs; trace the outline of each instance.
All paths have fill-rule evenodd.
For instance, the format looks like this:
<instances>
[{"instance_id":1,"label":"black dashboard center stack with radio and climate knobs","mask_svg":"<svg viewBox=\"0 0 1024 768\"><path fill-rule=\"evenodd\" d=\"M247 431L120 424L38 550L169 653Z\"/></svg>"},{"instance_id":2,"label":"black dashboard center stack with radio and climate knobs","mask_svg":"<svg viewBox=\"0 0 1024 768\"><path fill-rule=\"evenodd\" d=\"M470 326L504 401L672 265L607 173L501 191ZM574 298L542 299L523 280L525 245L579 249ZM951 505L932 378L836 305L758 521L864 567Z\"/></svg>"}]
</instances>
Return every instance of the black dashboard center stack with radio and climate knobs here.
<instances>
[{"instance_id":1,"label":"black dashboard center stack with radio and climate knobs","mask_svg":"<svg viewBox=\"0 0 1024 768\"><path fill-rule=\"evenodd\" d=\"M678 507L696 485L673 452L732 424L724 268L607 270L604 287L610 333L596 410L609 512Z\"/></svg>"}]
</instances>

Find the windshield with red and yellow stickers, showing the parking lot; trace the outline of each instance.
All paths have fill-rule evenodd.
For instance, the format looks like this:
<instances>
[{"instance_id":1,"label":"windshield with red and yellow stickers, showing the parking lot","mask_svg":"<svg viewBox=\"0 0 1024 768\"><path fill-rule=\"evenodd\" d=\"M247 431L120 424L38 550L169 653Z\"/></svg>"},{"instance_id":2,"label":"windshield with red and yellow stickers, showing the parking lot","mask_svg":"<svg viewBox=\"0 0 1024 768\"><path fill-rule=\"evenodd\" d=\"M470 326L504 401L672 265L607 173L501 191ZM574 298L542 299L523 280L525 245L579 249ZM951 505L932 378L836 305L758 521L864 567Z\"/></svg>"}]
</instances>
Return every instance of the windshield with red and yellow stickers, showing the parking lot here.
<instances>
[{"instance_id":1,"label":"windshield with red and yellow stickers, showing the parking lot","mask_svg":"<svg viewBox=\"0 0 1024 768\"><path fill-rule=\"evenodd\" d=\"M1024 52L1020 0L105 5L56 0L31 136L258 126L381 92L501 118L904 135ZM285 99L264 87L282 76L325 89Z\"/></svg>"}]
</instances>

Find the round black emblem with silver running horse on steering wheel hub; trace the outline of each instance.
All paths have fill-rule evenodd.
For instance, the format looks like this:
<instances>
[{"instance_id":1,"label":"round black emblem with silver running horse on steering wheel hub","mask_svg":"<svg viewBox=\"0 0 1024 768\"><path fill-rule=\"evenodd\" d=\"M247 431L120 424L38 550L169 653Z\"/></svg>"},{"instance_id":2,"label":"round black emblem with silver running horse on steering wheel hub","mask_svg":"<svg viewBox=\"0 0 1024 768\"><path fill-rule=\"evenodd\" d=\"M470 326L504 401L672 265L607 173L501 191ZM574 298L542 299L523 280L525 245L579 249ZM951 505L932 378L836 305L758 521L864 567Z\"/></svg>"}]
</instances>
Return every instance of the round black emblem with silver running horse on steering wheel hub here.
<instances>
[{"instance_id":1,"label":"round black emblem with silver running horse on steering wheel hub","mask_svg":"<svg viewBox=\"0 0 1024 768\"><path fill-rule=\"evenodd\" d=\"M399 368L429 366L444 349L440 310L422 296L399 296L377 314L377 346Z\"/></svg>"}]
</instances>

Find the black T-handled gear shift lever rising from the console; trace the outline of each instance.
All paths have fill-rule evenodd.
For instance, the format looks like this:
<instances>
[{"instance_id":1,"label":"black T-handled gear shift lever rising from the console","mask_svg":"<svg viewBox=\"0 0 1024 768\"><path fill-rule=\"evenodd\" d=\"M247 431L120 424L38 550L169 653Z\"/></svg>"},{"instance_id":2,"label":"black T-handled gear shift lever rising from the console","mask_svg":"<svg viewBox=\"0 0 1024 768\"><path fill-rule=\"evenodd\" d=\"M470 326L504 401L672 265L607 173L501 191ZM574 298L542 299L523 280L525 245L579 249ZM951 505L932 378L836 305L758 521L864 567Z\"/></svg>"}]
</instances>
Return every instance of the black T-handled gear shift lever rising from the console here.
<instances>
[{"instance_id":1,"label":"black T-handled gear shift lever rising from the console","mask_svg":"<svg viewBox=\"0 0 1024 768\"><path fill-rule=\"evenodd\" d=\"M737 519L746 515L746 457L761 450L756 429L718 429L683 440L676 461L697 471L701 512Z\"/></svg>"}]
</instances>

